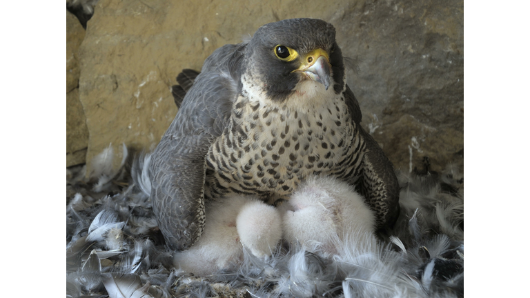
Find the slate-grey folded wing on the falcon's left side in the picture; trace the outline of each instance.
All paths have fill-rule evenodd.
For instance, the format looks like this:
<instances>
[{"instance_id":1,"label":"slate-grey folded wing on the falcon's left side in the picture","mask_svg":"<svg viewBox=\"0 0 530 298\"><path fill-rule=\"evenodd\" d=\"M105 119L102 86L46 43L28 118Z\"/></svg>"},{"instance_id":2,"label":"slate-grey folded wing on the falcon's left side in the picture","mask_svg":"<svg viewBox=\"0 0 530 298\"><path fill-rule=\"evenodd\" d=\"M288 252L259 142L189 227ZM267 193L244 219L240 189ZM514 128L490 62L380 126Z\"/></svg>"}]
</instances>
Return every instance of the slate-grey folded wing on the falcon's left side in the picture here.
<instances>
[{"instance_id":1,"label":"slate-grey folded wing on the falcon's left side in the picture","mask_svg":"<svg viewBox=\"0 0 530 298\"><path fill-rule=\"evenodd\" d=\"M204 229L204 157L228 122L234 85L223 72L199 74L153 153L153 210L173 249L189 248Z\"/></svg>"}]
</instances>

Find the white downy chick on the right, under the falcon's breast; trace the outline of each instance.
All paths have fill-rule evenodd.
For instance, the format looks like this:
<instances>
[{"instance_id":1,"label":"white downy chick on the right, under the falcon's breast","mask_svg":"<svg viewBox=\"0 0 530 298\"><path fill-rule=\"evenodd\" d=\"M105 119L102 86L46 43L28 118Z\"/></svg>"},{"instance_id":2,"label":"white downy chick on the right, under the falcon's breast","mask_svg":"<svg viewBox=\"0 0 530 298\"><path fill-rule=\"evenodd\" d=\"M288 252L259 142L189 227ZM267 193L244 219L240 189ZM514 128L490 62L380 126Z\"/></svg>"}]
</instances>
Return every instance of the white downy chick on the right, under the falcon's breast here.
<instances>
[{"instance_id":1,"label":"white downy chick on the right, under the falcon's breast","mask_svg":"<svg viewBox=\"0 0 530 298\"><path fill-rule=\"evenodd\" d=\"M375 241L375 216L364 198L333 177L309 177L282 209L284 239L291 244L310 250L317 245L333 255L342 251L337 245L346 239Z\"/></svg>"}]
</instances>

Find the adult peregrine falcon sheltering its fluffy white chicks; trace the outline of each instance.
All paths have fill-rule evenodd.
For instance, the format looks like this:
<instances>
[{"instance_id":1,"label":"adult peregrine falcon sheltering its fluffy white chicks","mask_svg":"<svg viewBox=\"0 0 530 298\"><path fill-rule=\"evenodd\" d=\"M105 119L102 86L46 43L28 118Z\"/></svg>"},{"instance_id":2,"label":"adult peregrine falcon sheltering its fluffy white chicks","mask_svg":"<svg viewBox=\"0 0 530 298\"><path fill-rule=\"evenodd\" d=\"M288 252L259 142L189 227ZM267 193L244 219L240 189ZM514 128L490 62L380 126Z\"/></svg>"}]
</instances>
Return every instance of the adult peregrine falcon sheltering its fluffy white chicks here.
<instances>
[{"instance_id":1,"label":"adult peregrine falcon sheltering its fluffy white chicks","mask_svg":"<svg viewBox=\"0 0 530 298\"><path fill-rule=\"evenodd\" d=\"M159 228L175 250L202 234L205 203L230 194L286 200L312 175L364 195L377 228L399 214L392 163L360 125L335 28L286 19L204 61L150 164Z\"/></svg>"}]
</instances>

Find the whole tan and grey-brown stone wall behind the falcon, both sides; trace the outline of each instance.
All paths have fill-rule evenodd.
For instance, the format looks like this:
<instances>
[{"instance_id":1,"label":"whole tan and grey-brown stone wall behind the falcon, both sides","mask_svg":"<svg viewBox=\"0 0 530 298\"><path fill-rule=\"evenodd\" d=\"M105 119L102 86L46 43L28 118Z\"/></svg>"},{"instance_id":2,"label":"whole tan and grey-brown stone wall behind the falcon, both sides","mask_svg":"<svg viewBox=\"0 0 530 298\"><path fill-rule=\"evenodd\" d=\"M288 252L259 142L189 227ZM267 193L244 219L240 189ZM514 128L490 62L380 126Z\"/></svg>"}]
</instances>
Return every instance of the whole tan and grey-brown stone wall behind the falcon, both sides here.
<instances>
[{"instance_id":1,"label":"whole tan and grey-brown stone wall behind the falcon, both sides","mask_svg":"<svg viewBox=\"0 0 530 298\"><path fill-rule=\"evenodd\" d=\"M395 168L463 165L462 0L101 0L79 49L86 161L112 146L152 150L176 115L170 86L219 46L293 17L333 23L364 128ZM116 148L115 152L119 152ZM116 159L119 161L119 158Z\"/></svg>"}]
</instances>

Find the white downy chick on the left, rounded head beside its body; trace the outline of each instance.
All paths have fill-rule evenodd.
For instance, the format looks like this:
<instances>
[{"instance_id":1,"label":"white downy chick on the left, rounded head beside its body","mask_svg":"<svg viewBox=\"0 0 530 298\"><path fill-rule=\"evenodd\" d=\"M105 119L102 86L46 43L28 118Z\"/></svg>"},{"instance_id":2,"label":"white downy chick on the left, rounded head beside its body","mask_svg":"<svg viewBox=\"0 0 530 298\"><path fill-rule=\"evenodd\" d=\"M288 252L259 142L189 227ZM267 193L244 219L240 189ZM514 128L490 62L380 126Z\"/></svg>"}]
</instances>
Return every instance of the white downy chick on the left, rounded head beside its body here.
<instances>
[{"instance_id":1,"label":"white downy chick on the left, rounded head beside its body","mask_svg":"<svg viewBox=\"0 0 530 298\"><path fill-rule=\"evenodd\" d=\"M190 249L175 252L173 263L202 277L235 270L243 260L242 244L257 257L271 255L281 237L281 216L273 206L255 197L227 197L206 206L201 237Z\"/></svg>"}]
</instances>

